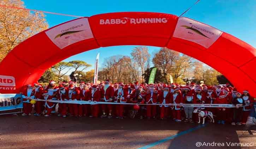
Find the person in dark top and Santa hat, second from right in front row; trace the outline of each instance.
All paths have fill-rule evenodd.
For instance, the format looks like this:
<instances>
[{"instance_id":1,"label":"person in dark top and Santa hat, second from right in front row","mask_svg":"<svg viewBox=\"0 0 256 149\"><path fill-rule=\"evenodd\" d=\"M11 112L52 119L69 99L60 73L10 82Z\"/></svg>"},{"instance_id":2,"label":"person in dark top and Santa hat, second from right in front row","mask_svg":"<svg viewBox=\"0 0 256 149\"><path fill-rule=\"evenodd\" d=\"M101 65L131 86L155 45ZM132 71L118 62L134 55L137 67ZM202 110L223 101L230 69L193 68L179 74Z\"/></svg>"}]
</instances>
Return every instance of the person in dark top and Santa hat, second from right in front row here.
<instances>
[{"instance_id":1,"label":"person in dark top and Santa hat, second from right in front row","mask_svg":"<svg viewBox=\"0 0 256 149\"><path fill-rule=\"evenodd\" d=\"M232 108L234 114L233 114L233 119L232 119L232 125L242 125L242 114L243 114L243 107L242 105L244 104L244 100L242 98L242 94L237 92L236 97L232 100L232 104L236 105L236 108Z\"/></svg>"}]
</instances>

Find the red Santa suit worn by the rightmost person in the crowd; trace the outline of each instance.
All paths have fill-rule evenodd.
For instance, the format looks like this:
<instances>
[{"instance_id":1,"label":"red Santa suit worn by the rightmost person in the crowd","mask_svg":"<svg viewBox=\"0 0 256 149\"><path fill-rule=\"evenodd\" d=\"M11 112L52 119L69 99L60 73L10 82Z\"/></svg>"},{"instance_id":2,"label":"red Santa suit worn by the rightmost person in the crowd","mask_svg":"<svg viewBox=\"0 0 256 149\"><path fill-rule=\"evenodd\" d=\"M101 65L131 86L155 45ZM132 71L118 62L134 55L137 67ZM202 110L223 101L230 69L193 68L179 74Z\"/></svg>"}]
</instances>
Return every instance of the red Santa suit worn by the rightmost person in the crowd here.
<instances>
[{"instance_id":1,"label":"red Santa suit worn by the rightmost person in the crowd","mask_svg":"<svg viewBox=\"0 0 256 149\"><path fill-rule=\"evenodd\" d=\"M251 111L253 100L252 100L251 97L245 96L245 95L242 96L242 99L243 99L243 106L244 106L243 107L243 114L242 114L242 123L246 123L247 118L248 118L248 116L250 114L250 111ZM249 104L248 103L246 104L246 102L249 102Z\"/></svg>"}]
</instances>

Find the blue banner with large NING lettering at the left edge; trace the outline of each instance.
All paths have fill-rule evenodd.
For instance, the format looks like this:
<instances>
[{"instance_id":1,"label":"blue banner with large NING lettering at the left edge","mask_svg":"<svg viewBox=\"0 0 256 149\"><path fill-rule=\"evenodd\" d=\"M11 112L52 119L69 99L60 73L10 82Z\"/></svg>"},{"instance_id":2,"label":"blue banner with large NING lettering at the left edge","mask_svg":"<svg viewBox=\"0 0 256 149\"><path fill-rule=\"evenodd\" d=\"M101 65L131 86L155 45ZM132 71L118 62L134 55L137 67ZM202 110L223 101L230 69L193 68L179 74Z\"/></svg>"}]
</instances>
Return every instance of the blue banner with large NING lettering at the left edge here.
<instances>
[{"instance_id":1,"label":"blue banner with large NING lettering at the left edge","mask_svg":"<svg viewBox=\"0 0 256 149\"><path fill-rule=\"evenodd\" d=\"M21 113L22 108L21 94L0 94L0 115Z\"/></svg>"}]
</instances>

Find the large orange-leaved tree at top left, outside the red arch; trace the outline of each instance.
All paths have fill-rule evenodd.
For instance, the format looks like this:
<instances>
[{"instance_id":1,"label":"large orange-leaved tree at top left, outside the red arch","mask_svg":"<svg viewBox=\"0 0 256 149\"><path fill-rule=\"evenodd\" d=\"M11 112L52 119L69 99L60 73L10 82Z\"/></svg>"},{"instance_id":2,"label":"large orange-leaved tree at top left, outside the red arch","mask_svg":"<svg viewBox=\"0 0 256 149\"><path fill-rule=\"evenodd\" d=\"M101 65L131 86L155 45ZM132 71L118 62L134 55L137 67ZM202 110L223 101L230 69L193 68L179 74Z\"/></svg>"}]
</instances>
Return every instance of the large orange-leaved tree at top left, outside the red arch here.
<instances>
[{"instance_id":1,"label":"large orange-leaved tree at top left, outside the red arch","mask_svg":"<svg viewBox=\"0 0 256 149\"><path fill-rule=\"evenodd\" d=\"M21 0L1 0L0 5L25 8ZM0 62L16 45L48 28L44 17L42 12L0 7Z\"/></svg>"}]
</instances>

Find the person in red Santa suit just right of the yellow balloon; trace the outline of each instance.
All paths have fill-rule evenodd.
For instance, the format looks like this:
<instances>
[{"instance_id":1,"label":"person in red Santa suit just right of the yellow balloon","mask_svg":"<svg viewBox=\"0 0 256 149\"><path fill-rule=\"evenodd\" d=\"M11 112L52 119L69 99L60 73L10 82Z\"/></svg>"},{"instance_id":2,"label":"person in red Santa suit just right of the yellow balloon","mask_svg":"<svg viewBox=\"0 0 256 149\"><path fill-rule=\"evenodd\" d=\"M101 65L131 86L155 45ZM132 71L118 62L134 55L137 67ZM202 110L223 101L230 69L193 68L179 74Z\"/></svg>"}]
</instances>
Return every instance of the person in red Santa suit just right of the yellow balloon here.
<instances>
[{"instance_id":1,"label":"person in red Santa suit just right of the yellow balloon","mask_svg":"<svg viewBox=\"0 0 256 149\"><path fill-rule=\"evenodd\" d=\"M35 99L43 99L43 88L42 86L36 82L34 83L34 90L35 90ZM41 113L43 112L43 101L36 101L35 104L35 110L36 113L34 114L35 116L40 116Z\"/></svg>"}]
</instances>

